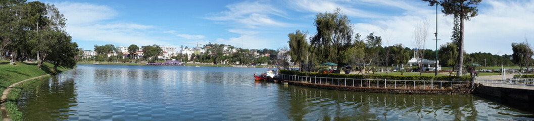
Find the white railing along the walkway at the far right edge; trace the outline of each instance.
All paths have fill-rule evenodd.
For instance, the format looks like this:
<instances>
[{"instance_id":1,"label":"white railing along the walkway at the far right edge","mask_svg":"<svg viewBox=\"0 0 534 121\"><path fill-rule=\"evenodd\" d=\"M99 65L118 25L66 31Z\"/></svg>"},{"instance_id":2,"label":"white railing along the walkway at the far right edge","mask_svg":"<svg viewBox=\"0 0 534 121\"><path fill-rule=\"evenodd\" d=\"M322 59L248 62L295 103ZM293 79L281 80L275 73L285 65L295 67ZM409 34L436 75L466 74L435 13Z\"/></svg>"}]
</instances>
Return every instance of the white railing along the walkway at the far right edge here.
<instances>
[{"instance_id":1,"label":"white railing along the walkway at the far right edge","mask_svg":"<svg viewBox=\"0 0 534 121\"><path fill-rule=\"evenodd\" d=\"M476 80L476 83L506 88L534 89L534 78L512 78L510 80Z\"/></svg>"}]
</instances>

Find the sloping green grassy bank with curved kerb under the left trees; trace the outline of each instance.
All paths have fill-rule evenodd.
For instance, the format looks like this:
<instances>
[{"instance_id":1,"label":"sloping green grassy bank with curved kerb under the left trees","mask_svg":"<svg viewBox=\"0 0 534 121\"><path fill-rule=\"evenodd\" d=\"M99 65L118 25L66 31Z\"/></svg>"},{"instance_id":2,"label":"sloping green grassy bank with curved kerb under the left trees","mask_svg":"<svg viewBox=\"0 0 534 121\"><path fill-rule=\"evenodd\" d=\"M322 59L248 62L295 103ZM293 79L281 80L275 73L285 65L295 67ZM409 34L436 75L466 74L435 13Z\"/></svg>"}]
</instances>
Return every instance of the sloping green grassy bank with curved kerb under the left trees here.
<instances>
[{"instance_id":1,"label":"sloping green grassy bank with curved kerb under the left trees","mask_svg":"<svg viewBox=\"0 0 534 121\"><path fill-rule=\"evenodd\" d=\"M11 65L9 61L0 62L0 80L2 80L0 81L0 92L4 92L12 84L25 80L25 82L11 87L9 94L7 94L7 99L2 100L2 105L5 106L5 110L0 111L2 119L23 120L22 112L17 107L19 93L23 87L35 86L32 84L50 77L50 74L54 75L70 69L59 66L57 67L57 71L54 71L53 67L54 65L52 63L46 62L43 63L41 68L38 68L37 64L34 63L16 62L15 65Z\"/></svg>"}]
</instances>

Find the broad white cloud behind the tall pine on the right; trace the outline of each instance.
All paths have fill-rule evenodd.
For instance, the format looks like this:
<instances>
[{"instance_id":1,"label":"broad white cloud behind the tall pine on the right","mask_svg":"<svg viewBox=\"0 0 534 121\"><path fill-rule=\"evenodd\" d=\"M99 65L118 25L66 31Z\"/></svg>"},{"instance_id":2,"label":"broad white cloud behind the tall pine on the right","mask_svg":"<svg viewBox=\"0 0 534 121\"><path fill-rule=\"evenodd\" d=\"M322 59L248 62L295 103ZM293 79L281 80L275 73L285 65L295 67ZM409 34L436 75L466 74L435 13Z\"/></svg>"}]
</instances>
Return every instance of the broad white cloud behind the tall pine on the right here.
<instances>
[{"instance_id":1,"label":"broad white cloud behind the tall pine on the right","mask_svg":"<svg viewBox=\"0 0 534 121\"><path fill-rule=\"evenodd\" d=\"M423 4L427 5L427 4ZM465 22L465 50L468 53L490 52L492 54L512 54L511 43L524 42L524 37L532 40L534 33L534 1L483 1L479 15ZM434 7L435 8L435 7ZM417 10L417 9L415 9ZM435 9L420 9L418 14L407 8L405 14L387 19L375 19L372 22L354 23L355 32L364 38L368 33L378 36L391 35L391 44L402 43L412 46L412 31L418 22L430 21L427 49L435 49L436 16ZM434 11L434 12L431 12ZM518 12L520 11L520 12ZM452 16L438 15L438 45L451 42L453 27ZM532 42L531 42L532 43ZM385 43L383 43L385 44Z\"/></svg>"}]
</instances>

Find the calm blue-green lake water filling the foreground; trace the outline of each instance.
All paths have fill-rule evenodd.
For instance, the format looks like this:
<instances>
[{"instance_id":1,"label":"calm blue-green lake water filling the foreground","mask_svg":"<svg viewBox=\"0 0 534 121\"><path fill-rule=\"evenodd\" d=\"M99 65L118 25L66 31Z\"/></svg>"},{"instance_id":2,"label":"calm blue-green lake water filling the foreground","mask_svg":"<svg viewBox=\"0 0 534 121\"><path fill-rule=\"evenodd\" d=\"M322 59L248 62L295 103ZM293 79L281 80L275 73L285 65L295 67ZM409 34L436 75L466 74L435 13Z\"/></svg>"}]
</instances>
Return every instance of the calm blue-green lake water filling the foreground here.
<instances>
[{"instance_id":1,"label":"calm blue-green lake water filling the foreground","mask_svg":"<svg viewBox=\"0 0 534 121\"><path fill-rule=\"evenodd\" d=\"M512 120L474 95L381 94L254 81L264 68L78 64L22 91L27 120Z\"/></svg>"}]
</instances>

